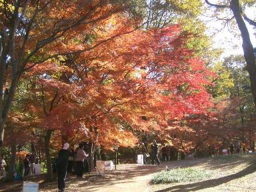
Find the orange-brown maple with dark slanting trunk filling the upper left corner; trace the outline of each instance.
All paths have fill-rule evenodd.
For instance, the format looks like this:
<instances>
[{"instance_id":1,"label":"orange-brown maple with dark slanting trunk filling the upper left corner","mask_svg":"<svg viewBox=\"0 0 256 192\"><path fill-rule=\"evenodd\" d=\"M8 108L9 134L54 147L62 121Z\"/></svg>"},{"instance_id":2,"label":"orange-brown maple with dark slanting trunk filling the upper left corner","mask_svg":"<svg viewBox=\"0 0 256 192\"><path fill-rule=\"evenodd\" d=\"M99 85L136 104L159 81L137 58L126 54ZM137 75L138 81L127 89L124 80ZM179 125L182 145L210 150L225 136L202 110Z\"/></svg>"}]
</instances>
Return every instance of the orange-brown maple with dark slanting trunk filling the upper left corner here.
<instances>
[{"instance_id":1,"label":"orange-brown maple with dark slanting trunk filling the upper left corner","mask_svg":"<svg viewBox=\"0 0 256 192\"><path fill-rule=\"evenodd\" d=\"M123 1L0 2L0 97L6 97L0 99L1 143L5 121L21 75L50 58L73 51L83 52L96 46L56 49L61 47L63 41L77 34L87 41L96 23L100 25L114 13L130 8L129 3Z\"/></svg>"}]
</instances>

